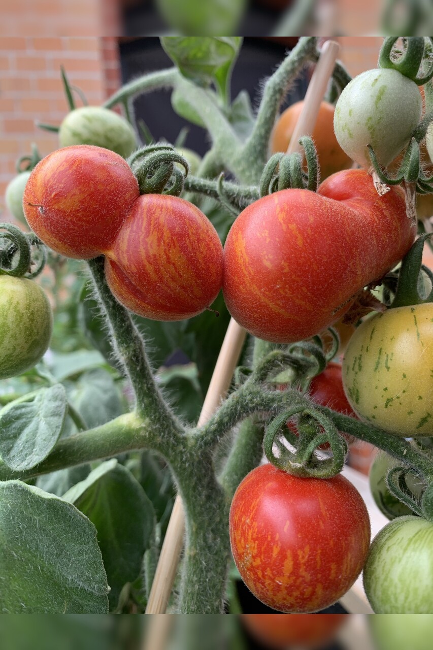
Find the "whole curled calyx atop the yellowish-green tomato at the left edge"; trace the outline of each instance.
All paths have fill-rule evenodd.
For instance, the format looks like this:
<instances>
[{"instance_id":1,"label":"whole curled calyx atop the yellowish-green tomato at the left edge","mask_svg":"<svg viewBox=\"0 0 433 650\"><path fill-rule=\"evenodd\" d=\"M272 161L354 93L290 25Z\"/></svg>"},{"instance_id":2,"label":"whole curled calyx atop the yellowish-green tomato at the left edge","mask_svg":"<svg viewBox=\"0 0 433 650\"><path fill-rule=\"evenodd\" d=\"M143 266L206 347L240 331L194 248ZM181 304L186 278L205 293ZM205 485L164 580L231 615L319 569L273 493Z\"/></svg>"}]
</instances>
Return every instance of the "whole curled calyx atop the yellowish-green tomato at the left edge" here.
<instances>
[{"instance_id":1,"label":"whole curled calyx atop the yellowish-green tomato at the left edge","mask_svg":"<svg viewBox=\"0 0 433 650\"><path fill-rule=\"evenodd\" d=\"M0 223L0 275L36 278L45 263L46 248L36 235L23 233L12 224Z\"/></svg>"}]
</instances>

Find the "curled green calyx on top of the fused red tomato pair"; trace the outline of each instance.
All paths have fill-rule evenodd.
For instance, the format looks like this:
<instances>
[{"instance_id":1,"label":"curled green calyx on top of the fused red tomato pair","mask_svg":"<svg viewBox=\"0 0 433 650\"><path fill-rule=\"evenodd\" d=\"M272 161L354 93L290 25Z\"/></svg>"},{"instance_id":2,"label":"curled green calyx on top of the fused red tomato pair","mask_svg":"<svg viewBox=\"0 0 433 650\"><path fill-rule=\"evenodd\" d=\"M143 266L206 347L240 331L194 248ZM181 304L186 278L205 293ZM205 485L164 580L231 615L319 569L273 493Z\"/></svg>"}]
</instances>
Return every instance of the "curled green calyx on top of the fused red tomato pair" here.
<instances>
[{"instance_id":1,"label":"curled green calyx on top of the fused red tomato pair","mask_svg":"<svg viewBox=\"0 0 433 650\"><path fill-rule=\"evenodd\" d=\"M171 144L151 144L138 149L129 157L128 163L137 177L141 194L179 196L189 172L187 160ZM176 163L183 166L184 173Z\"/></svg>"}]
</instances>

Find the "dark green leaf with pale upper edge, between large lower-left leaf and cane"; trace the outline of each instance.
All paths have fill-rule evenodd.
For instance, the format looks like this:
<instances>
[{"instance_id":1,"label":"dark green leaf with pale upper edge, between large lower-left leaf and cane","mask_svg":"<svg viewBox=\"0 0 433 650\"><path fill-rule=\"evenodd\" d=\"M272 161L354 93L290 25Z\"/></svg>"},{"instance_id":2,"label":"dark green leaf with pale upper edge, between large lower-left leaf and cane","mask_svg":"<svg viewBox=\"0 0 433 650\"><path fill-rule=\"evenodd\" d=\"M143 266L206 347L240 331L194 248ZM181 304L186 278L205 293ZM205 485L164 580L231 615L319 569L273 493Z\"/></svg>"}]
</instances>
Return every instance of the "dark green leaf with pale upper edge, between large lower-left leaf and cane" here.
<instances>
[{"instance_id":1,"label":"dark green leaf with pale upper edge, between large lower-left leaf and cane","mask_svg":"<svg viewBox=\"0 0 433 650\"><path fill-rule=\"evenodd\" d=\"M138 577L153 541L155 511L144 489L116 459L101 463L63 497L94 523L116 608L126 582Z\"/></svg>"}]
</instances>

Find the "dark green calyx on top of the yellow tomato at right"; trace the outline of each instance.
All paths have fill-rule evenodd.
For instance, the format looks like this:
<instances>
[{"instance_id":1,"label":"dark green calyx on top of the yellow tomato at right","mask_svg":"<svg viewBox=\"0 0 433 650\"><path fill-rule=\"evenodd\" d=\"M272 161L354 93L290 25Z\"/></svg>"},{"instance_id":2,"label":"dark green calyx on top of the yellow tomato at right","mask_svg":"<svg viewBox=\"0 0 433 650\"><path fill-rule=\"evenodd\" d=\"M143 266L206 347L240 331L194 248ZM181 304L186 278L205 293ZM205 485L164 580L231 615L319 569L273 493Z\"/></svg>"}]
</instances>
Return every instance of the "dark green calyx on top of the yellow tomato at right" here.
<instances>
[{"instance_id":1,"label":"dark green calyx on top of the yellow tomato at right","mask_svg":"<svg viewBox=\"0 0 433 650\"><path fill-rule=\"evenodd\" d=\"M420 235L407 255L402 259L397 289L389 309L433 302L433 273L422 263L424 244L432 235L433 233ZM425 296L420 295L418 288L421 271L428 276L432 285L430 293Z\"/></svg>"}]
</instances>

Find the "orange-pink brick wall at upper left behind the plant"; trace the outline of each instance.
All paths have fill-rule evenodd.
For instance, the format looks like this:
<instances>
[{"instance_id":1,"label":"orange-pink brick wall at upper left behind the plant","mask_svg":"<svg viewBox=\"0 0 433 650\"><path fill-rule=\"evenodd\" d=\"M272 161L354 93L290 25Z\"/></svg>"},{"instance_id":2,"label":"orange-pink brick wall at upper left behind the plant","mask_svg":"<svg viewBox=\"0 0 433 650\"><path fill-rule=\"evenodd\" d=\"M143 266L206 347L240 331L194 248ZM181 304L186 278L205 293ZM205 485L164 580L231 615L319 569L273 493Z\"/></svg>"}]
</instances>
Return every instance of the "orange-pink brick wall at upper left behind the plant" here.
<instances>
[{"instance_id":1,"label":"orange-pink brick wall at upper left behind the plant","mask_svg":"<svg viewBox=\"0 0 433 650\"><path fill-rule=\"evenodd\" d=\"M0 38L0 209L16 159L31 152L32 142L42 155L59 146L57 134L41 131L34 121L59 124L68 112L60 64L90 104L101 104L120 85L118 45L111 36Z\"/></svg>"}]
</instances>

